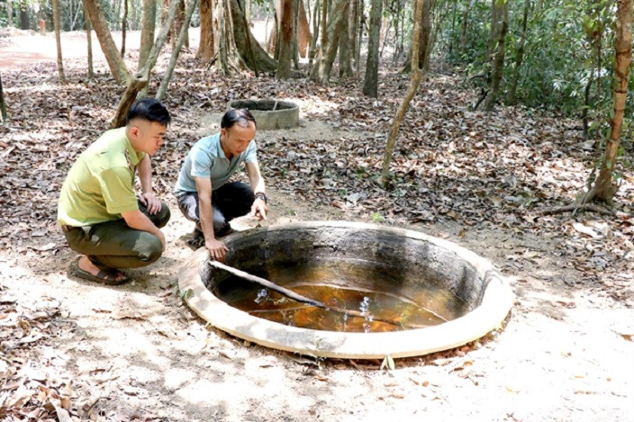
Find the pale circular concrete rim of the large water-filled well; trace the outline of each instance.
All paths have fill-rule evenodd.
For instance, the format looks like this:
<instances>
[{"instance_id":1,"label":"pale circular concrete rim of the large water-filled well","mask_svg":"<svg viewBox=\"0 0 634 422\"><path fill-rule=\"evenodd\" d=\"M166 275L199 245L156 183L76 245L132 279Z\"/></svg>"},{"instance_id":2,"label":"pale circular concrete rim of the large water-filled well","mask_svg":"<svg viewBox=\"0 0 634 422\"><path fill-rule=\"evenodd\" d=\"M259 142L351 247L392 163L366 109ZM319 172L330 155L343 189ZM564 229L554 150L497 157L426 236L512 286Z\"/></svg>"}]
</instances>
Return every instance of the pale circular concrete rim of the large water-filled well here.
<instances>
[{"instance_id":1,"label":"pale circular concrete rim of the large water-filled well","mask_svg":"<svg viewBox=\"0 0 634 422\"><path fill-rule=\"evenodd\" d=\"M502 274L485 258L464 247L419 231L396 229L374 224L349 221L307 221L260 228L258 230L315 229L318 227L385 230L412 239L420 239L443 247L475 267L476 274L485 280L481 303L463 317L439 326L388 333L343 333L295 328L259 319L247 312L232 308L210 292L201 278L201 265L209 259L209 252L201 247L178 274L178 287L185 292L189 307L214 327L235 337L261 346L272 347L303 355L346 359L379 359L390 355L408 357L427 355L464 345L498 327L512 306L512 291ZM231 237L240 236L240 232ZM227 239L229 239L228 237ZM188 292L190 291L191 292Z\"/></svg>"}]
</instances>

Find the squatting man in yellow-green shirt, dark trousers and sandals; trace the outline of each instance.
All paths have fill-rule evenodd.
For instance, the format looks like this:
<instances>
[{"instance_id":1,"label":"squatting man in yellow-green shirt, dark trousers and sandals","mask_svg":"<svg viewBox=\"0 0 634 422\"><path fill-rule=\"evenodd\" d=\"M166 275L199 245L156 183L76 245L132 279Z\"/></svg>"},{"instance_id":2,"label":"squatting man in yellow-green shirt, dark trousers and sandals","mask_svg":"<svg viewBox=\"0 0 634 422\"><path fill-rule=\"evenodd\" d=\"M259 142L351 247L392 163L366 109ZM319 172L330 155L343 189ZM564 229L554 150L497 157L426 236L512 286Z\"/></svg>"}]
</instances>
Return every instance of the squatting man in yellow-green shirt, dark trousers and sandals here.
<instances>
[{"instance_id":1,"label":"squatting man in yellow-green shirt, dark trousers and sandals","mask_svg":"<svg viewBox=\"0 0 634 422\"><path fill-rule=\"evenodd\" d=\"M169 209L152 191L149 156L155 154L171 121L157 100L132 104L125 127L107 130L70 167L59 194L58 222L68 246L84 255L77 276L105 284L128 281L117 268L159 259ZM134 193L139 172L142 193Z\"/></svg>"}]
</instances>

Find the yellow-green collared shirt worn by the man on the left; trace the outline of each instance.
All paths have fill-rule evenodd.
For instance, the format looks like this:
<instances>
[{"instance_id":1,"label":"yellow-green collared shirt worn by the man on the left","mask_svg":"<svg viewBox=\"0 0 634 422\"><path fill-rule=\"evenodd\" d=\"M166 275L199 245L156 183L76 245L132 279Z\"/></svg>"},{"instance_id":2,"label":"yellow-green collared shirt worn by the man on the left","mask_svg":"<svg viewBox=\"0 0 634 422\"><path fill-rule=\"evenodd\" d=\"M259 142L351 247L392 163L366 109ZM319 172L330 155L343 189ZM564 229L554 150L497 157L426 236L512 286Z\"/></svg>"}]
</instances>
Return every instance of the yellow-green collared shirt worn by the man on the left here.
<instances>
[{"instance_id":1,"label":"yellow-green collared shirt worn by the man on the left","mask_svg":"<svg viewBox=\"0 0 634 422\"><path fill-rule=\"evenodd\" d=\"M59 193L59 224L88 226L138 210L134 171L143 157L125 127L106 131L70 167Z\"/></svg>"}]
</instances>

